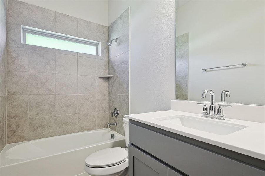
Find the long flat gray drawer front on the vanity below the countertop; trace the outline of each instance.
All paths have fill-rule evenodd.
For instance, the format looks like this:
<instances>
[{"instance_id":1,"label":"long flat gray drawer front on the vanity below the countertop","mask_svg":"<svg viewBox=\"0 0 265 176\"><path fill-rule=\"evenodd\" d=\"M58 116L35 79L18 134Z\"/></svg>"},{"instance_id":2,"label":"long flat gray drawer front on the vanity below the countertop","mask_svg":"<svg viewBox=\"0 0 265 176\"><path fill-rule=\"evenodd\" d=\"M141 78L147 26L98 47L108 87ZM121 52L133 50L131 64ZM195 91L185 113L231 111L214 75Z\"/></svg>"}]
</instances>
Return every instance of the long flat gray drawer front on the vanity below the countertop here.
<instances>
[{"instance_id":1,"label":"long flat gray drawer front on the vanity below the countertop","mask_svg":"<svg viewBox=\"0 0 265 176\"><path fill-rule=\"evenodd\" d=\"M129 123L129 142L190 176L263 176L250 165Z\"/></svg>"}]
</instances>

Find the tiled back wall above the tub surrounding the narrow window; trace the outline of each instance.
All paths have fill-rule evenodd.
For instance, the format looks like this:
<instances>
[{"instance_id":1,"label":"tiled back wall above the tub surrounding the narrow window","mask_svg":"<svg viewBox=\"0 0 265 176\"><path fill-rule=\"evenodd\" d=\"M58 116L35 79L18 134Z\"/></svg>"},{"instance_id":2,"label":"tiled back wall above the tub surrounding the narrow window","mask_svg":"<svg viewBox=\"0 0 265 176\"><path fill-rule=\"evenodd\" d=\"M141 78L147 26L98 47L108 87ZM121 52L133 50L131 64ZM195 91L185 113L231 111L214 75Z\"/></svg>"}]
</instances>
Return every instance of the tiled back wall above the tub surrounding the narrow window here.
<instances>
[{"instance_id":1,"label":"tiled back wall above the tub surrounding the narrow window","mask_svg":"<svg viewBox=\"0 0 265 176\"><path fill-rule=\"evenodd\" d=\"M101 56L21 44L21 25L101 42ZM106 128L108 27L8 1L7 143Z\"/></svg>"}]
</instances>

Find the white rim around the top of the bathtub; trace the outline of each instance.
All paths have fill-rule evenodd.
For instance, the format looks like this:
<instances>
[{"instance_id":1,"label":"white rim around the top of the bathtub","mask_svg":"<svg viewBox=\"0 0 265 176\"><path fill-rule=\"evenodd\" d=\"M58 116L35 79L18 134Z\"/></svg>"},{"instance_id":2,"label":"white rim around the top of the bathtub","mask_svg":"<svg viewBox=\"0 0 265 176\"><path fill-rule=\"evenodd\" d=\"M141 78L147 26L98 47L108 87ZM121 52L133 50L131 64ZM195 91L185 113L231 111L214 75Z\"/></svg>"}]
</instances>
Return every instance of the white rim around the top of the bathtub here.
<instances>
[{"instance_id":1,"label":"white rim around the top of the bathtub","mask_svg":"<svg viewBox=\"0 0 265 176\"><path fill-rule=\"evenodd\" d=\"M119 138L114 138L112 140L107 140L107 141L102 141L102 142L99 142L99 143L95 143L95 144L92 144L92 145L86 145L84 147L80 147L80 148L75 148L73 150L67 150L67 151L64 151L64 152L59 152L59 153L55 153L55 154L52 154L52 155L46 155L46 156L40 156L38 158L31 158L31 159L28 159L28 160L23 160L23 161L19 161L19 162L16 162L16 163L10 163L8 164L1 164L1 160L2 159L7 159L7 160L10 160L8 158L5 158L5 155L4 153L9 150L10 148L14 147L14 146L17 146L17 145L20 145L20 144L23 144L23 143L27 143L27 142L31 142L31 141L44 141L44 140L47 140L47 138L59 138L61 136L72 136L72 135L76 135L76 134L81 134L81 133L90 133L90 132L96 132L96 131L107 131L107 132L112 132L115 134L115 136L117 135ZM30 141L23 141L23 142L18 142L18 143L11 143L11 144L7 144L3 150L1 151L0 153L0 169L2 167L8 167L8 166L11 166L11 165L16 165L16 164L19 164L19 163L24 163L24 162L28 162L28 161L32 161L32 160L38 160L38 159L41 159L41 158L47 158L47 157L51 157L51 156L54 156L54 155L60 155L60 154L63 154L63 153L68 153L68 152L72 152L72 151L76 151L76 150L81 150L81 149L84 149L84 148L89 148L89 147L92 147L92 146L98 146L98 145L101 145L101 144L105 144L105 143L111 143L111 142L114 142L114 141L121 141L121 140L125 140L125 137L122 136L121 134L117 133L116 131L110 129L110 128L101 128L101 129L96 129L96 130L91 130L91 131L82 131L82 132L78 132L78 133L70 133L70 134L65 134L65 135L59 135L59 136L52 136L52 137L47 137L47 138L41 138L41 139L34 139L34 140L30 140Z\"/></svg>"}]
</instances>

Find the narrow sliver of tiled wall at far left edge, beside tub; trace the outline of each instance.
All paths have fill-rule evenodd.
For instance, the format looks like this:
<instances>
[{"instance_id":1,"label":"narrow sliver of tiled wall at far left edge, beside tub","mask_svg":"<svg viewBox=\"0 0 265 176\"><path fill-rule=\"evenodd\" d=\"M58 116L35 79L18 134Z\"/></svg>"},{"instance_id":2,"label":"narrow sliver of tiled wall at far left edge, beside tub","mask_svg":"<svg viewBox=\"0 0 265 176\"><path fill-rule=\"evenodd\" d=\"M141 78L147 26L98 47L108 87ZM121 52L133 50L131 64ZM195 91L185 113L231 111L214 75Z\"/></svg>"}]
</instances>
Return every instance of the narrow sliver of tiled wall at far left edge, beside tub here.
<instances>
[{"instance_id":1,"label":"narrow sliver of tiled wall at far left edge, beside tub","mask_svg":"<svg viewBox=\"0 0 265 176\"><path fill-rule=\"evenodd\" d=\"M6 10L0 0L0 152L6 145Z\"/></svg>"}]
</instances>

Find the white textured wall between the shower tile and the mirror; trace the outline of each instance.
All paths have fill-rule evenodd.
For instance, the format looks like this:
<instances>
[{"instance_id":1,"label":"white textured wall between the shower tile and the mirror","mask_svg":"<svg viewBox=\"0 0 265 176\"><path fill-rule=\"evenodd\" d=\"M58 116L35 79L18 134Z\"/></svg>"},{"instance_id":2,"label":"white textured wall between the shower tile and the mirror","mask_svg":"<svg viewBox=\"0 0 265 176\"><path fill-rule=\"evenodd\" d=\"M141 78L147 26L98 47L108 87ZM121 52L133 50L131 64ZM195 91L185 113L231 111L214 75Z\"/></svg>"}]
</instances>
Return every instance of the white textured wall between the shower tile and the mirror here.
<instances>
[{"instance_id":1,"label":"white textured wall between the shower tile and the mirror","mask_svg":"<svg viewBox=\"0 0 265 176\"><path fill-rule=\"evenodd\" d=\"M109 24L131 6L130 114L175 99L175 1L109 1Z\"/></svg>"}]
</instances>

